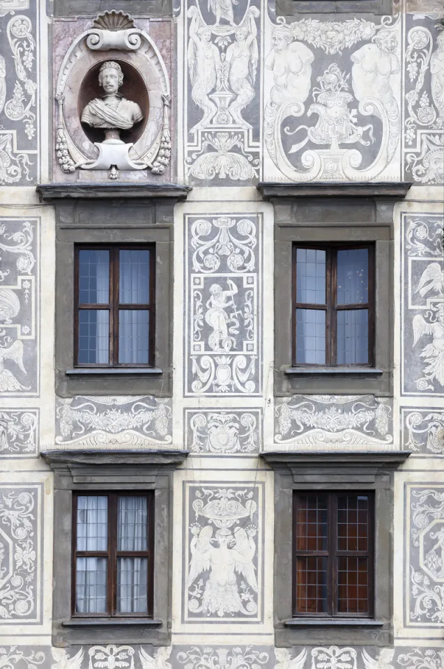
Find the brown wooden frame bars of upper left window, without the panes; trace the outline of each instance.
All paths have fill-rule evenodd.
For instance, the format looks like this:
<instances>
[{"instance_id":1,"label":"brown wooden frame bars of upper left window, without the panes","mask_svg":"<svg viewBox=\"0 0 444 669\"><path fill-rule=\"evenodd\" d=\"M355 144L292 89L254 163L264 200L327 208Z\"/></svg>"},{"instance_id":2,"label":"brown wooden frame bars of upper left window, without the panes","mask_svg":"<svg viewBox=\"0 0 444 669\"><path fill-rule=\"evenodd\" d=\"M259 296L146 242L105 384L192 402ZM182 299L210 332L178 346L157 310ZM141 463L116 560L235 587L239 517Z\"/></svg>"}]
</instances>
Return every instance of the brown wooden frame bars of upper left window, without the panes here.
<instances>
[{"instance_id":1,"label":"brown wooden frame bars of upper left window, without the panes","mask_svg":"<svg viewBox=\"0 0 444 669\"><path fill-rule=\"evenodd\" d=\"M89 250L100 250L109 252L109 301L102 304L81 304L79 302L79 252ZM149 267L149 302L144 304L120 303L118 301L119 289L119 252L120 251L144 251L150 253ZM155 245L154 244L76 244L74 250L74 361L75 367L103 368L149 368L154 367L155 346ZM103 310L109 312L109 357L108 363L79 362L79 312L85 310ZM149 312L148 321L148 363L141 362L118 362L118 312L121 310L146 310Z\"/></svg>"}]
</instances>

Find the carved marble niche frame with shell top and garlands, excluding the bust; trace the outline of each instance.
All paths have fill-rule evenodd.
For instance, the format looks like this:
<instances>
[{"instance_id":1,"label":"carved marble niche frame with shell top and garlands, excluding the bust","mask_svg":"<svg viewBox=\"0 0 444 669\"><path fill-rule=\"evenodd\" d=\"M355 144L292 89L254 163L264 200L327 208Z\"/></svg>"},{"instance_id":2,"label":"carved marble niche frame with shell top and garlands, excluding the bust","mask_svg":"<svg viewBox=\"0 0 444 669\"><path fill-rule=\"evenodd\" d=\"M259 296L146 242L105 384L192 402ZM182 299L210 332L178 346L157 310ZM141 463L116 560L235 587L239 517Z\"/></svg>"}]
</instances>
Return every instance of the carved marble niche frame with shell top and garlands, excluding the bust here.
<instances>
[{"instance_id":1,"label":"carved marble niche frame with shell top and garlands, excluding the bust","mask_svg":"<svg viewBox=\"0 0 444 669\"><path fill-rule=\"evenodd\" d=\"M85 26L85 22L80 25ZM95 79L105 61L116 61L121 66L123 93L126 89L128 100L137 102L144 114L135 132L122 131L128 137L121 138L121 146L132 142L126 157L118 146L113 148L103 141L103 131L89 128L80 118L85 105L100 96ZM121 10L99 14L75 36L56 73L54 102L54 175L59 174L55 180L61 175L68 181L116 180L120 169L127 180L140 181L149 178L150 173L158 178L171 170L169 72L153 38L137 27L130 15ZM114 173L107 174L112 168L108 164L112 160L107 160L111 155L117 172L113 167Z\"/></svg>"}]
</instances>

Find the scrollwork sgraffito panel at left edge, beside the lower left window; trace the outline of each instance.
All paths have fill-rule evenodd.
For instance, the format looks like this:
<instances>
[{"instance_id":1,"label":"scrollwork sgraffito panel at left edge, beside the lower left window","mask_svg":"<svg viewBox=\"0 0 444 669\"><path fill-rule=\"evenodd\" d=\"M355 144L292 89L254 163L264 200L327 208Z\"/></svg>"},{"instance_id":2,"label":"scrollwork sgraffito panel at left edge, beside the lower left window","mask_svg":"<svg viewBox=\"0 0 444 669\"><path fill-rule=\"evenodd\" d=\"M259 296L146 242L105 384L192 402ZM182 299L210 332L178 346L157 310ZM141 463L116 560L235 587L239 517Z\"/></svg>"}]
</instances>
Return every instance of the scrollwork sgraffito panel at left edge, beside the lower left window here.
<instances>
[{"instance_id":1,"label":"scrollwork sgraffito panel at left edge, beside the lower left window","mask_svg":"<svg viewBox=\"0 0 444 669\"><path fill-rule=\"evenodd\" d=\"M0 486L1 624L40 622L40 485ZM31 668L30 668L31 669Z\"/></svg>"}]
</instances>

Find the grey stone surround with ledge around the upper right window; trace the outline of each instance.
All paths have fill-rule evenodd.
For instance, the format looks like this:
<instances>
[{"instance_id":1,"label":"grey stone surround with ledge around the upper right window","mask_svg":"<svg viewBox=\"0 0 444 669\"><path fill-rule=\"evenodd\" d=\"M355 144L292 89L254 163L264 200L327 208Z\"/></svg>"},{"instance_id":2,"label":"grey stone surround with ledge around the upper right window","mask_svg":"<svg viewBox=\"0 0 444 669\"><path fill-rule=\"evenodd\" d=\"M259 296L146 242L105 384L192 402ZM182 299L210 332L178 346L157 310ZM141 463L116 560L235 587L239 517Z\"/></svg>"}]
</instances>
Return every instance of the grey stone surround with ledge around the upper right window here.
<instances>
[{"instance_id":1,"label":"grey stone surround with ledge around the upper right window","mask_svg":"<svg viewBox=\"0 0 444 669\"><path fill-rule=\"evenodd\" d=\"M392 395L393 207L409 183L296 185L259 183L275 209L275 397L333 393ZM359 218L358 218L359 216ZM358 218L358 220L357 220ZM376 309L374 367L292 367L293 243L375 244Z\"/></svg>"}]
</instances>

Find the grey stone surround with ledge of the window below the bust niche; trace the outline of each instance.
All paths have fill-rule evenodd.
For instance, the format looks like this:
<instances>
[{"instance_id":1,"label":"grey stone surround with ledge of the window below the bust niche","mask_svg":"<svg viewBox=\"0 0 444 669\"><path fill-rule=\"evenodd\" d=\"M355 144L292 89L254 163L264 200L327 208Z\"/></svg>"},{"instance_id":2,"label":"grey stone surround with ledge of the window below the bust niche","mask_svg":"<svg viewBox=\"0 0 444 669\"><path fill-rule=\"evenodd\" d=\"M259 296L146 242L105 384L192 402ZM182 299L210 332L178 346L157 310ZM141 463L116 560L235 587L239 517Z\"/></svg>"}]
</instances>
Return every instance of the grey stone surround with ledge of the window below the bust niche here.
<instances>
[{"instance_id":1,"label":"grey stone surround with ledge of the window below the bust niche","mask_svg":"<svg viewBox=\"0 0 444 669\"><path fill-rule=\"evenodd\" d=\"M186 199L190 188L85 183L45 184L37 190L56 213L56 394L171 397L174 204ZM154 367L74 368L74 249L79 243L155 245Z\"/></svg>"}]
</instances>

